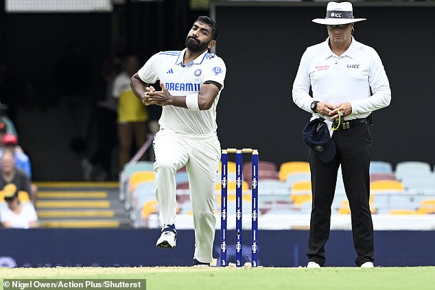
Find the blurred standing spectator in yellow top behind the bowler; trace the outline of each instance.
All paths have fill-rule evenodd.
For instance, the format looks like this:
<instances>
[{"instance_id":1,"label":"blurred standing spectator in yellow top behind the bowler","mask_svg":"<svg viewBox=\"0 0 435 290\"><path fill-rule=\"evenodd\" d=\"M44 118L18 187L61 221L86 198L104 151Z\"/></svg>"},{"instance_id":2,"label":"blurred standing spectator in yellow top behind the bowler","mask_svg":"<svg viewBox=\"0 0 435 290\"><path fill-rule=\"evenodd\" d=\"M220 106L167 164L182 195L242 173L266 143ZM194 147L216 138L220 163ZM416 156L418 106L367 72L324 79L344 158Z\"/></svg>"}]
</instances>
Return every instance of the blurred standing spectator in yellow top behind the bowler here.
<instances>
[{"instance_id":1,"label":"blurred standing spectator in yellow top behind the bowler","mask_svg":"<svg viewBox=\"0 0 435 290\"><path fill-rule=\"evenodd\" d=\"M113 97L118 99L119 171L132 157L133 141L139 149L145 143L148 132L148 110L130 88L131 77L140 67L139 58L128 54L124 57L123 66L124 71L113 82ZM145 160L145 156L142 159Z\"/></svg>"}]
</instances>

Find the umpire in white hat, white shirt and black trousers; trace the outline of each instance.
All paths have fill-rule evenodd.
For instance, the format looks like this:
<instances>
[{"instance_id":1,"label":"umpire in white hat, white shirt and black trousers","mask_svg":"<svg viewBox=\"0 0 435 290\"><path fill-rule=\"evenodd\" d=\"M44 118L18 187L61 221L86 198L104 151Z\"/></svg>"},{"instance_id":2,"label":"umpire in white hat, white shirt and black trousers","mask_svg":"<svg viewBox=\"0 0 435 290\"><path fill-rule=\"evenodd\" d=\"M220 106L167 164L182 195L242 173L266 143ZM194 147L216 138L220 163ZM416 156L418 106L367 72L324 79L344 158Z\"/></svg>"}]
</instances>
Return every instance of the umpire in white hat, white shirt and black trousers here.
<instances>
[{"instance_id":1,"label":"umpire in white hat, white shirt and black trousers","mask_svg":"<svg viewBox=\"0 0 435 290\"><path fill-rule=\"evenodd\" d=\"M313 20L326 25L329 37L306 49L293 84L294 103L313 114L303 132L311 147L309 165L313 194L307 267L325 265L325 244L329 238L331 205L340 165L351 208L353 245L357 252L355 263L358 267L373 267L375 260L369 206L369 126L371 112L390 104L391 90L375 49L353 37L355 23L364 20L353 17L350 2L329 2L326 18ZM319 117L325 119L324 122L316 120ZM310 127L313 125L315 127ZM320 134L326 140L316 144L319 128L329 134Z\"/></svg>"}]
</instances>

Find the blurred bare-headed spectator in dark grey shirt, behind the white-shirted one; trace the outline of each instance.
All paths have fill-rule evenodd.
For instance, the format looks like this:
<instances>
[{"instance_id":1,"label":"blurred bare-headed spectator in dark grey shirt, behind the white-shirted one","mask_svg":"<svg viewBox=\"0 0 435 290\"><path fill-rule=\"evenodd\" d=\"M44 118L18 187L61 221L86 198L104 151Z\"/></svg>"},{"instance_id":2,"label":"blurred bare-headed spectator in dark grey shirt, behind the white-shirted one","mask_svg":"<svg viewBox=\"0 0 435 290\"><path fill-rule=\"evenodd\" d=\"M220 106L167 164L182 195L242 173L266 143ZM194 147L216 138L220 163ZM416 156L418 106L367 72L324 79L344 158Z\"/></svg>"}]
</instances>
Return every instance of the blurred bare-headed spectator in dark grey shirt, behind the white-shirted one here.
<instances>
[{"instance_id":1,"label":"blurred bare-headed spectator in dark grey shirt, behind the white-shirted one","mask_svg":"<svg viewBox=\"0 0 435 290\"><path fill-rule=\"evenodd\" d=\"M10 149L4 149L0 161L0 188L8 183L13 183L19 191L27 192L30 200L35 204L36 196L32 195L32 182L24 171L16 168L14 152Z\"/></svg>"}]
</instances>

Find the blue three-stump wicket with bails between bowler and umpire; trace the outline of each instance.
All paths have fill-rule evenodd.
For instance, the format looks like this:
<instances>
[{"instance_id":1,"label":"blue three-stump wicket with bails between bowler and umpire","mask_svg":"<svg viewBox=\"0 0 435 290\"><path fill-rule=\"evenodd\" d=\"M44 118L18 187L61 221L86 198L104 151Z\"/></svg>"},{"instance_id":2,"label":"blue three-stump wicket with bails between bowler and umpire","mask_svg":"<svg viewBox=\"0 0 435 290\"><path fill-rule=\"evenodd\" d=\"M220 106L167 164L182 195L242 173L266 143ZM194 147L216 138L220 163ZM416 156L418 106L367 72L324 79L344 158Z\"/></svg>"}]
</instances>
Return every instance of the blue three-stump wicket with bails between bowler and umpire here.
<instances>
[{"instance_id":1,"label":"blue three-stump wicket with bails between bowler and umpire","mask_svg":"<svg viewBox=\"0 0 435 290\"><path fill-rule=\"evenodd\" d=\"M236 245L235 245L235 261L236 267L242 267L242 184L243 184L243 154L252 154L252 188L251 188L251 204L252 204L252 245L251 245L251 265L258 265L258 150L251 148L222 149L222 178L221 178L221 210L220 210L220 265L227 266L226 260L226 217L227 217L227 187L228 184L228 153L235 153L236 162L236 190L235 190L235 217L236 217Z\"/></svg>"}]
</instances>

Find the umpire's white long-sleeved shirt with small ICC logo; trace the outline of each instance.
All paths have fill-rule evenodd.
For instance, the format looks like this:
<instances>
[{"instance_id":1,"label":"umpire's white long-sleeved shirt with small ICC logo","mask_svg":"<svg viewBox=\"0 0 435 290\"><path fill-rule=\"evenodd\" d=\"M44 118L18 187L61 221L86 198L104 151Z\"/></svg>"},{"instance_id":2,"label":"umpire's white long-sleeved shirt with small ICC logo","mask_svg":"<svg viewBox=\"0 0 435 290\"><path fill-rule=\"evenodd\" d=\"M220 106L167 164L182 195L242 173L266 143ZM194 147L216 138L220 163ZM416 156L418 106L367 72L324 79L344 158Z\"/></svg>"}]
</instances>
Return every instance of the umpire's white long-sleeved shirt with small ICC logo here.
<instances>
[{"instance_id":1,"label":"umpire's white long-sleeved shirt with small ICC logo","mask_svg":"<svg viewBox=\"0 0 435 290\"><path fill-rule=\"evenodd\" d=\"M329 38L303 53L293 84L294 103L312 112L313 101L333 105L350 102L352 113L346 120L365 118L372 111L388 106L390 83L375 49L352 37L349 49L337 56L328 43ZM313 97L309 96L310 86ZM318 117L320 114L313 114L312 119Z\"/></svg>"}]
</instances>

